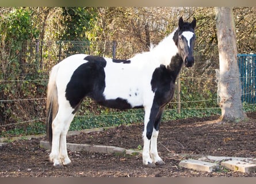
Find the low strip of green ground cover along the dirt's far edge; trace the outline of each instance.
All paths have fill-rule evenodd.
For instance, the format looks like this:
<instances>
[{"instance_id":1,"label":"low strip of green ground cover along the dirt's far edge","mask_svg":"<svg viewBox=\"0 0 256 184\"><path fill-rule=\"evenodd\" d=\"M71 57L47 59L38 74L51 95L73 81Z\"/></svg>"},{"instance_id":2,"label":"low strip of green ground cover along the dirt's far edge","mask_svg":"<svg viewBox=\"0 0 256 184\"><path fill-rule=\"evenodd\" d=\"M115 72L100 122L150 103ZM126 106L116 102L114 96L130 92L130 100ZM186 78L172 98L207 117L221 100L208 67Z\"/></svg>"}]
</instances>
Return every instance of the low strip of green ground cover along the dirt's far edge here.
<instances>
[{"instance_id":1,"label":"low strip of green ground cover along the dirt's far edge","mask_svg":"<svg viewBox=\"0 0 256 184\"><path fill-rule=\"evenodd\" d=\"M256 111L255 105L244 105L245 112ZM176 109L167 109L163 113L162 121L170 121L177 119L185 119L190 117L208 117L212 115L220 115L219 108L211 109L181 109L181 113L177 113ZM108 110L106 112L97 114L85 114L85 116L76 116L71 122L70 131L79 131L82 129L113 127L119 125L129 125L135 123L142 123L144 118L143 109L130 109L124 111ZM3 129L0 137L26 136L38 135L45 133L45 122L35 121L29 124L16 125L9 129Z\"/></svg>"}]
</instances>

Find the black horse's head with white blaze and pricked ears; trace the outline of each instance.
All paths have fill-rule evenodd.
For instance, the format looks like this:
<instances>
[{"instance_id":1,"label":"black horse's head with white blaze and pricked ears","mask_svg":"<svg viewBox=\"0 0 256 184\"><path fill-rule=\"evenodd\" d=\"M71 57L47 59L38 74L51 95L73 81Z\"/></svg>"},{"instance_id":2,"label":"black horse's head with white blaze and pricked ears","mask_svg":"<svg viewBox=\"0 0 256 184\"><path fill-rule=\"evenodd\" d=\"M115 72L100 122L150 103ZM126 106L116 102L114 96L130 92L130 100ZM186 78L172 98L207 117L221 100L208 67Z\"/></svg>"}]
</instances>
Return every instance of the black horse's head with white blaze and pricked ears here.
<instances>
[{"instance_id":1,"label":"black horse's head with white blaze and pricked ears","mask_svg":"<svg viewBox=\"0 0 256 184\"><path fill-rule=\"evenodd\" d=\"M194 41L196 35L194 34L196 28L196 19L193 18L191 23L184 22L182 17L179 18L179 26L174 33L173 40L178 48L178 53L182 57L186 67L192 67L194 64Z\"/></svg>"}]
</instances>

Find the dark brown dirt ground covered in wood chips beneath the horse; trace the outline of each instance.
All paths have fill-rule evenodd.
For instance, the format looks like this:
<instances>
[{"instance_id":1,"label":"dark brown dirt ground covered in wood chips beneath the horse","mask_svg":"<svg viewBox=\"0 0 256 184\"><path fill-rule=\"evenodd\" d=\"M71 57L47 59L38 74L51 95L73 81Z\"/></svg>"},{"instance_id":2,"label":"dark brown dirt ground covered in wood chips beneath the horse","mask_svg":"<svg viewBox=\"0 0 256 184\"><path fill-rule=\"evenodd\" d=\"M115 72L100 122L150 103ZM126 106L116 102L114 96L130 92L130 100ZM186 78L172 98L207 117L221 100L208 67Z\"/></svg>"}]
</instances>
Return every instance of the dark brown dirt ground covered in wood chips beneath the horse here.
<instances>
[{"instance_id":1,"label":"dark brown dirt ground covered in wood chips beneath the horse","mask_svg":"<svg viewBox=\"0 0 256 184\"><path fill-rule=\"evenodd\" d=\"M213 173L178 166L189 155L256 157L256 112L239 124L217 124L218 117L188 118L162 122L159 155L166 162L154 168L143 166L142 156L71 152L70 166L55 168L49 150L39 147L41 139L19 140L0 147L0 177L256 177L220 167ZM114 145L141 149L142 124L120 126L104 132L68 137L69 143ZM188 156L173 156L188 154Z\"/></svg>"}]
</instances>

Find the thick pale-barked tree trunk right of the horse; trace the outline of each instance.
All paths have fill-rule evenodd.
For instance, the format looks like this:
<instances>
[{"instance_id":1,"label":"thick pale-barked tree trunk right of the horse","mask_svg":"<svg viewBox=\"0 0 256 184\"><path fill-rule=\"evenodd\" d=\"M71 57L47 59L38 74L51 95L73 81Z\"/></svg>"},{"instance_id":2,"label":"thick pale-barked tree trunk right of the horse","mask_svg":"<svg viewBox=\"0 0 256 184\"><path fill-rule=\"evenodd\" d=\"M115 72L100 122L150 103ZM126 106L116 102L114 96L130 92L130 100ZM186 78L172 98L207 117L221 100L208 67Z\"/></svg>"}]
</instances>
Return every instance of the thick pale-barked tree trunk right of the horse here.
<instances>
[{"instance_id":1,"label":"thick pale-barked tree trunk right of the horse","mask_svg":"<svg viewBox=\"0 0 256 184\"><path fill-rule=\"evenodd\" d=\"M216 70L221 120L239 122L246 118L242 109L242 89L237 63L235 23L231 7L215 7L220 70Z\"/></svg>"}]
</instances>

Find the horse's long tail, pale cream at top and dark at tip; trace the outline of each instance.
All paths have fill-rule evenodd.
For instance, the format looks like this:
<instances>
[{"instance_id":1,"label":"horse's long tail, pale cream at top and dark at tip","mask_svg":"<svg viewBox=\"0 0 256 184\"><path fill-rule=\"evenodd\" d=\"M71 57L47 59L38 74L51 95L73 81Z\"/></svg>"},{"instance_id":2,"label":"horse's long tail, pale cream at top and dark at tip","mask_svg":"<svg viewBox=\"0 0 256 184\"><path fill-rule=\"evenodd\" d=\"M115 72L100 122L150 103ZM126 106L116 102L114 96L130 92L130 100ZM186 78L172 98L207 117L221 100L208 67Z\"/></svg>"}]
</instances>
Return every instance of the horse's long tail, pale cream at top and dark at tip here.
<instances>
[{"instance_id":1,"label":"horse's long tail, pale cream at top and dark at tip","mask_svg":"<svg viewBox=\"0 0 256 184\"><path fill-rule=\"evenodd\" d=\"M49 144L52 144L52 121L58 113L58 93L56 86L56 75L58 74L59 65L57 64L51 70L49 82L47 86L47 101L46 101L46 132Z\"/></svg>"}]
</instances>

